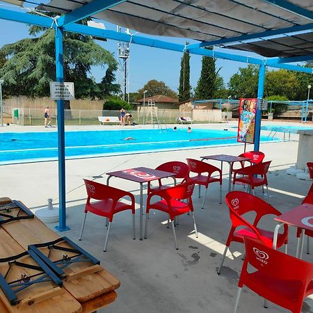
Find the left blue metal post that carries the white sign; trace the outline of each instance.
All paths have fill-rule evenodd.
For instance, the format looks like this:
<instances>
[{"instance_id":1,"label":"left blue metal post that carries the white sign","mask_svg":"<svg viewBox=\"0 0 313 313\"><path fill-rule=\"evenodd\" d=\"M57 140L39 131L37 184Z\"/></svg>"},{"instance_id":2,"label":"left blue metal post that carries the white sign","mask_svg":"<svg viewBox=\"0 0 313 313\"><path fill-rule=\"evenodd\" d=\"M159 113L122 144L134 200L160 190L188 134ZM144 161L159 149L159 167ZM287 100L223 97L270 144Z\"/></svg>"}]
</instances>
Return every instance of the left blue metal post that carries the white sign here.
<instances>
[{"instance_id":1,"label":"left blue metal post that carries the white sign","mask_svg":"<svg viewBox=\"0 0 313 313\"><path fill-rule=\"evenodd\" d=\"M63 73L63 29L56 26L56 81L64 81ZM56 230L64 232L70 230L66 226L65 204L65 128L64 128L64 100L57 100L58 108L58 199L59 222Z\"/></svg>"}]
</instances>

